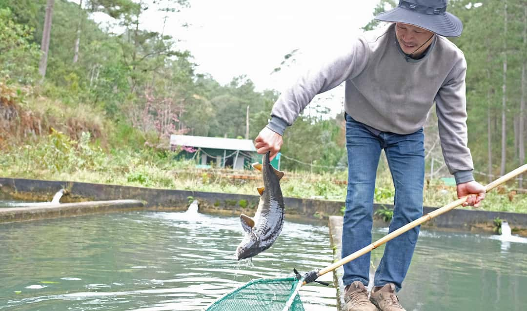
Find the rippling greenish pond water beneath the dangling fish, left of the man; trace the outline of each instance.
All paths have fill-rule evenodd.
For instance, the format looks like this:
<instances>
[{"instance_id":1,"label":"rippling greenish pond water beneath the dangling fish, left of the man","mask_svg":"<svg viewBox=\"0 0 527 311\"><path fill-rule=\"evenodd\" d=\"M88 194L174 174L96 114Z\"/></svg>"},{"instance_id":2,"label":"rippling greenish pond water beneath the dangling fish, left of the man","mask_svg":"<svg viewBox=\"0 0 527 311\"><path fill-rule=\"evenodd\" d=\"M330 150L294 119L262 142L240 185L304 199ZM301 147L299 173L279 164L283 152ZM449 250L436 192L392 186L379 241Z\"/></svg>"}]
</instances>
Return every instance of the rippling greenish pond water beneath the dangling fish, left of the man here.
<instances>
[{"instance_id":1,"label":"rippling greenish pond water beneath the dangling fish, left of the man","mask_svg":"<svg viewBox=\"0 0 527 311\"><path fill-rule=\"evenodd\" d=\"M251 279L329 265L327 230L288 222L247 265L234 259L237 217L140 212L8 224L0 310L200 310ZM335 309L334 288L305 286L301 295L308 310Z\"/></svg>"}]
</instances>

